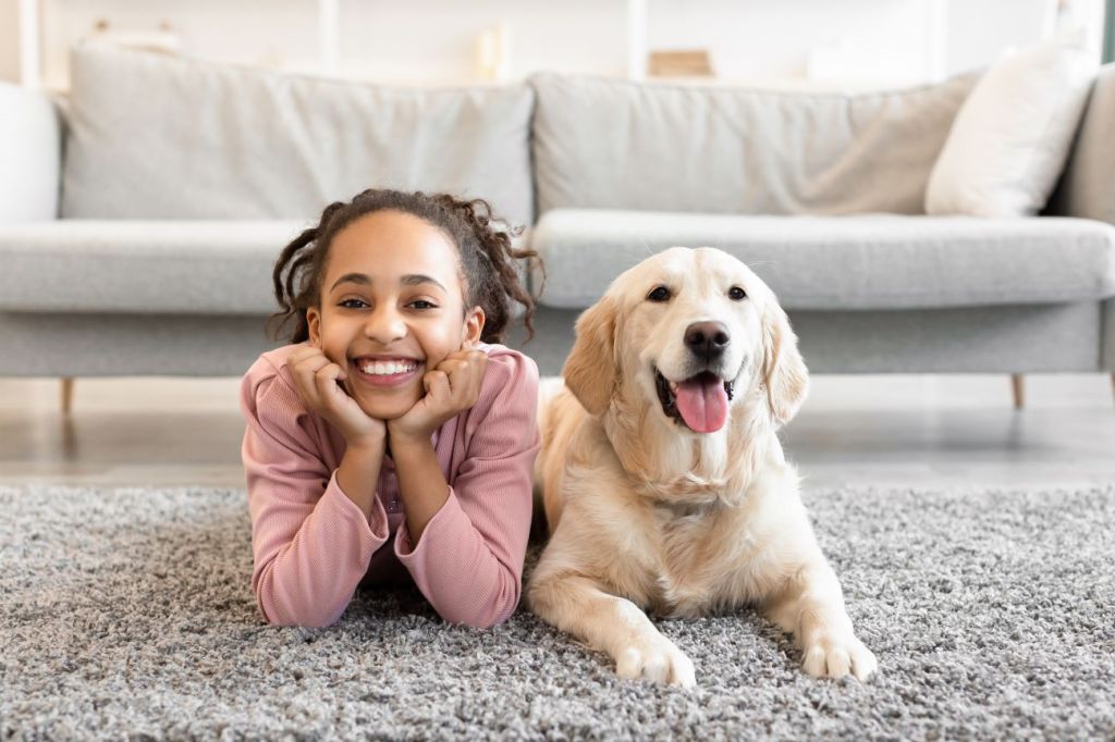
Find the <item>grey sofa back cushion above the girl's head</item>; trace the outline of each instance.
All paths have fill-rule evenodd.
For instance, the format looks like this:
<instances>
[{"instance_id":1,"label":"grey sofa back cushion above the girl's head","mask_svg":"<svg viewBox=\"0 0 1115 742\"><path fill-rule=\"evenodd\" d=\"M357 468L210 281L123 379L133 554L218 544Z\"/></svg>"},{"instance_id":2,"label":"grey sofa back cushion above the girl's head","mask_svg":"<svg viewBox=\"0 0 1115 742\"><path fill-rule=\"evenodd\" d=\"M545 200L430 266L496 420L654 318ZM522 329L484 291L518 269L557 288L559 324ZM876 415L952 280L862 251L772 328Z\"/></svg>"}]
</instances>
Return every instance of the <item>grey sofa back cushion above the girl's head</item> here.
<instances>
[{"instance_id":1,"label":"grey sofa back cushion above the girl's head","mask_svg":"<svg viewBox=\"0 0 1115 742\"><path fill-rule=\"evenodd\" d=\"M369 187L533 217L525 84L392 88L97 47L72 55L70 218L316 218Z\"/></svg>"}]
</instances>

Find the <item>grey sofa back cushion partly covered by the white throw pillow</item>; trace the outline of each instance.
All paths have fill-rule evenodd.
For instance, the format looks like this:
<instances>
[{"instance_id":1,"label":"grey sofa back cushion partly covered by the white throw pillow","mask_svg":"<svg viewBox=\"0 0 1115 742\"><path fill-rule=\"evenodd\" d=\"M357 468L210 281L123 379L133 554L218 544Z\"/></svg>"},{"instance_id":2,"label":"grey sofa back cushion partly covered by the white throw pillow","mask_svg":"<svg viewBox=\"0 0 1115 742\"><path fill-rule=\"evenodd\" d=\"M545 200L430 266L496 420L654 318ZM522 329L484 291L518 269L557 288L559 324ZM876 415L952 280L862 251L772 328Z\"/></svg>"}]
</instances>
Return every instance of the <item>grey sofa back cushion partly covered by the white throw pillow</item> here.
<instances>
[{"instance_id":1,"label":"grey sofa back cushion partly covered by the white throw pillow","mask_svg":"<svg viewBox=\"0 0 1115 742\"><path fill-rule=\"evenodd\" d=\"M536 75L539 211L921 214L977 78L846 95Z\"/></svg>"}]
</instances>

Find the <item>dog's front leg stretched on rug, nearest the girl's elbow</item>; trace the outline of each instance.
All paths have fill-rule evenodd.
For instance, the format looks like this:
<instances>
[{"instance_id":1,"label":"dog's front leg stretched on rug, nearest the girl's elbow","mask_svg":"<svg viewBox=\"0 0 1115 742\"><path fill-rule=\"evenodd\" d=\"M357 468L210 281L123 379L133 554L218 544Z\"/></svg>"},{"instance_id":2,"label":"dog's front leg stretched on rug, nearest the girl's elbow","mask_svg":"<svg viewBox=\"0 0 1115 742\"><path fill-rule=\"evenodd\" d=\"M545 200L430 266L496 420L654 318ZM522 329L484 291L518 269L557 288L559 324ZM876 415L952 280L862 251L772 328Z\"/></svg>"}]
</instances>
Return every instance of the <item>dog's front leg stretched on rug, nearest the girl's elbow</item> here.
<instances>
[{"instance_id":1,"label":"dog's front leg stretched on rug, nearest the girl's elbow","mask_svg":"<svg viewBox=\"0 0 1115 742\"><path fill-rule=\"evenodd\" d=\"M620 677L696 685L692 661L655 628L647 614L591 579L555 575L532 580L527 601L546 623L610 655Z\"/></svg>"}]
</instances>

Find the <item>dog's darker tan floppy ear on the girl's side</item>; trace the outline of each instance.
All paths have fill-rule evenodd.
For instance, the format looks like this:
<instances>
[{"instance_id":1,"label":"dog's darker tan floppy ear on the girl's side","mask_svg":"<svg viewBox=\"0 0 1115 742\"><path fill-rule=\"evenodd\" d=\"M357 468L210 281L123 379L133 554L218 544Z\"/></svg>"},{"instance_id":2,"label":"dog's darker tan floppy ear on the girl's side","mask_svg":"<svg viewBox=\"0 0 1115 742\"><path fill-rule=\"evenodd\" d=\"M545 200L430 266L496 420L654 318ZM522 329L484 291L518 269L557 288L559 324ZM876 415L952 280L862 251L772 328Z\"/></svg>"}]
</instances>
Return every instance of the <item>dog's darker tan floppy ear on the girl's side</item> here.
<instances>
[{"instance_id":1,"label":"dog's darker tan floppy ear on the girl's side","mask_svg":"<svg viewBox=\"0 0 1115 742\"><path fill-rule=\"evenodd\" d=\"M576 341L561 374L565 378L565 385L589 414L600 414L608 409L619 374L615 358L615 303L608 296L578 318Z\"/></svg>"}]
</instances>

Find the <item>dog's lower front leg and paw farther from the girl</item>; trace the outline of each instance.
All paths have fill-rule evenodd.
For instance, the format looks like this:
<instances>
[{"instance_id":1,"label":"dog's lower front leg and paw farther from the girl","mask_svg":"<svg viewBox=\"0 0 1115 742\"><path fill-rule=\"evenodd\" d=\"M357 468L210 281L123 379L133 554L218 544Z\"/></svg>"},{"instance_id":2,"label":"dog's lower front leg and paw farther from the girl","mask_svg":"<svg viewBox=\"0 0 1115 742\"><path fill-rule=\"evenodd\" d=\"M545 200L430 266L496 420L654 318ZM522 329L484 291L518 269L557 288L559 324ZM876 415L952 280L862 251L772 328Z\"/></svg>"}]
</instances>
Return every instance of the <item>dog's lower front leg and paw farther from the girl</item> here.
<instances>
[{"instance_id":1,"label":"dog's lower front leg and paw farther from the girl","mask_svg":"<svg viewBox=\"0 0 1115 742\"><path fill-rule=\"evenodd\" d=\"M864 681L879 663L852 629L844 609L844 594L836 573L817 560L796 572L765 604L766 615L794 635L803 653L803 667L814 677L841 677L849 673Z\"/></svg>"}]
</instances>

